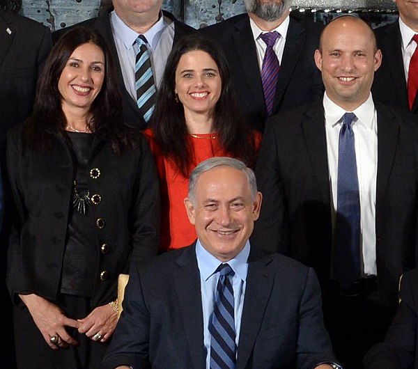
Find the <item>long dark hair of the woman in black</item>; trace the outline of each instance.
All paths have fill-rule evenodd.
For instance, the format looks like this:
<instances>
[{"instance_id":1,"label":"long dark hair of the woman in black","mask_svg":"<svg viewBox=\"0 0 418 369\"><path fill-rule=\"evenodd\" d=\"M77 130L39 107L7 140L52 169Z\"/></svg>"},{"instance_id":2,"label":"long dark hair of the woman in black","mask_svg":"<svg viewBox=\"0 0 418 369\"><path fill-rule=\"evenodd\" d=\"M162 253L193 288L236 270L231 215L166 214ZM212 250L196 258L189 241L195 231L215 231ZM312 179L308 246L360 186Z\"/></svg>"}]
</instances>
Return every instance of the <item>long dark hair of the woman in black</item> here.
<instances>
[{"instance_id":1,"label":"long dark hair of the woman in black","mask_svg":"<svg viewBox=\"0 0 418 369\"><path fill-rule=\"evenodd\" d=\"M89 128L96 136L109 141L112 150L118 154L127 146L136 146L138 132L134 133L133 127L123 123L122 97L109 47L98 31L77 27L56 42L39 76L33 113L24 127L29 147L48 151L52 134L59 134L70 143L65 134L67 120L61 109L58 82L72 52L86 43L100 47L105 61L104 81L100 93L91 104L93 119L88 123Z\"/></svg>"}]
</instances>

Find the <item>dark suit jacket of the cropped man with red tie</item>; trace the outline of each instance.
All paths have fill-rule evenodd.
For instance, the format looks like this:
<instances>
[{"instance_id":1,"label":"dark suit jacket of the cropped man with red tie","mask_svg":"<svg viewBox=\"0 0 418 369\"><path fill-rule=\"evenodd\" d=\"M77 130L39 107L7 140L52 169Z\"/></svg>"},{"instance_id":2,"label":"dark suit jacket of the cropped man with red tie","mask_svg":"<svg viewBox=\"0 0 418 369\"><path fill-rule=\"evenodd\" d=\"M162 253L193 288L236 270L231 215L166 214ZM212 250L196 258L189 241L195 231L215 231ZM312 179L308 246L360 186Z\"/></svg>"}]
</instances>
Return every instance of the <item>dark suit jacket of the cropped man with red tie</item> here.
<instances>
[{"instance_id":1,"label":"dark suit jacket of the cropped man with red tie","mask_svg":"<svg viewBox=\"0 0 418 369\"><path fill-rule=\"evenodd\" d=\"M378 47L382 50L382 65L376 71L371 91L376 100L389 107L409 110L408 89L403 69L402 38L399 22L378 27L375 31ZM418 95L412 106L412 113L418 114Z\"/></svg>"}]
</instances>

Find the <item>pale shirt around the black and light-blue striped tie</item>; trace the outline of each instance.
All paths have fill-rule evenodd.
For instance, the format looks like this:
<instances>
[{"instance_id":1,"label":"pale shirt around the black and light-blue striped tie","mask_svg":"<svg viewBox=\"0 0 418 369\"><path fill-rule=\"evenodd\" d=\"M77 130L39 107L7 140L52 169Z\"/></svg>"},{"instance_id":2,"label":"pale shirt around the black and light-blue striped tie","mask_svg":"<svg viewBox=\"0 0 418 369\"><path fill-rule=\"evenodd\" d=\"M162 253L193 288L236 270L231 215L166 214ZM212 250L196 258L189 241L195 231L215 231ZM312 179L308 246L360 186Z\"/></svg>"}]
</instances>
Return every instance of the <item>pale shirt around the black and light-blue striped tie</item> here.
<instances>
[{"instance_id":1,"label":"pale shirt around the black and light-blue striped tie","mask_svg":"<svg viewBox=\"0 0 418 369\"><path fill-rule=\"evenodd\" d=\"M132 98L137 101L137 89L135 88L136 54L132 45L137 40L139 33L123 23L123 20L118 17L114 10L110 13L110 24L118 52L119 64L121 65L123 82ZM157 23L143 35L148 41L147 46L155 85L160 86L167 58L173 47L174 22L161 13Z\"/></svg>"}]
</instances>

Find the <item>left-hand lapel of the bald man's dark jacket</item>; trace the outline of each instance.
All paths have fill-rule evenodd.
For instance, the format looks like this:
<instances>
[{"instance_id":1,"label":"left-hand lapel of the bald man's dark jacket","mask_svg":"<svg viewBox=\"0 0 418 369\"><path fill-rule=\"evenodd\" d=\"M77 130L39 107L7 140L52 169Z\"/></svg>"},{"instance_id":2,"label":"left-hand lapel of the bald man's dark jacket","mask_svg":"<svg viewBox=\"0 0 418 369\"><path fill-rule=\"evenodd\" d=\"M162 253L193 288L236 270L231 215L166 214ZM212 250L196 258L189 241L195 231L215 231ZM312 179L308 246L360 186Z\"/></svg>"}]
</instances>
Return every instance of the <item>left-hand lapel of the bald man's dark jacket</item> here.
<instances>
[{"instance_id":1,"label":"left-hand lapel of the bald man's dark jacket","mask_svg":"<svg viewBox=\"0 0 418 369\"><path fill-rule=\"evenodd\" d=\"M324 203L330 203L327 136L322 100L311 104L302 121L304 139Z\"/></svg>"}]
</instances>

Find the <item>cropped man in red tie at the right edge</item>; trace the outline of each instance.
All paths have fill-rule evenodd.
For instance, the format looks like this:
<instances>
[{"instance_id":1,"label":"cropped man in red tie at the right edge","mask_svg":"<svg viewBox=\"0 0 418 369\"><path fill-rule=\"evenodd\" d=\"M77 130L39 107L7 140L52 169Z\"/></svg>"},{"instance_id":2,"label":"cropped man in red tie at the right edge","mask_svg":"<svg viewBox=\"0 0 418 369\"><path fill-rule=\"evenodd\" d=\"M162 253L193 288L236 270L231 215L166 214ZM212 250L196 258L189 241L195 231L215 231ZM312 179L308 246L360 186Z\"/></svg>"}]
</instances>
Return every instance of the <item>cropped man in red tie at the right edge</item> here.
<instances>
[{"instance_id":1,"label":"cropped man in red tie at the right edge","mask_svg":"<svg viewBox=\"0 0 418 369\"><path fill-rule=\"evenodd\" d=\"M376 29L383 59L372 92L391 107L418 114L418 7L407 0L396 0L396 6L398 20Z\"/></svg>"}]
</instances>

